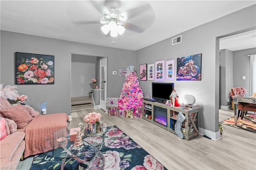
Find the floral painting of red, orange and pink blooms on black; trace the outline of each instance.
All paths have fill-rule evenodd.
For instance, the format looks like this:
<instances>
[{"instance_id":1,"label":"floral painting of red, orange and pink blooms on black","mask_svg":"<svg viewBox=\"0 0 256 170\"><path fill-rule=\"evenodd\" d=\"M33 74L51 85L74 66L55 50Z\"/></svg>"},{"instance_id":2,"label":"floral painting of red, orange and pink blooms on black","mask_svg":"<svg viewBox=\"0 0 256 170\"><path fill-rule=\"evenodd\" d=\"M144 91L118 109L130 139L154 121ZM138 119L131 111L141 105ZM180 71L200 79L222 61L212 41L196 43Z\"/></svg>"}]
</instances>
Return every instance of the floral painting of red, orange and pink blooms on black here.
<instances>
[{"instance_id":1,"label":"floral painting of red, orange and pink blooms on black","mask_svg":"<svg viewBox=\"0 0 256 170\"><path fill-rule=\"evenodd\" d=\"M54 55L16 52L16 84L54 84Z\"/></svg>"}]
</instances>

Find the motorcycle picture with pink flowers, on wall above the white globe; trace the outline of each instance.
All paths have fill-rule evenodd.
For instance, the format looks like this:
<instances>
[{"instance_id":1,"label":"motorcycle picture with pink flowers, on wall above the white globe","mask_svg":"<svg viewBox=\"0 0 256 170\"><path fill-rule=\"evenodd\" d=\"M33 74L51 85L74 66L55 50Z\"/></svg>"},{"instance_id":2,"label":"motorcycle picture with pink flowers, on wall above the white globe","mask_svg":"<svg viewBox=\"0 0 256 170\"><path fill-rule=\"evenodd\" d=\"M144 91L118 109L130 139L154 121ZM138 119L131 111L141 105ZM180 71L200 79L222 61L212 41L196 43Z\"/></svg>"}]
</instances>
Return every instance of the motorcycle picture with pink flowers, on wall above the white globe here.
<instances>
[{"instance_id":1,"label":"motorcycle picture with pink flowers, on wall above the white globe","mask_svg":"<svg viewBox=\"0 0 256 170\"><path fill-rule=\"evenodd\" d=\"M201 80L202 53L177 58L176 80Z\"/></svg>"}]
</instances>

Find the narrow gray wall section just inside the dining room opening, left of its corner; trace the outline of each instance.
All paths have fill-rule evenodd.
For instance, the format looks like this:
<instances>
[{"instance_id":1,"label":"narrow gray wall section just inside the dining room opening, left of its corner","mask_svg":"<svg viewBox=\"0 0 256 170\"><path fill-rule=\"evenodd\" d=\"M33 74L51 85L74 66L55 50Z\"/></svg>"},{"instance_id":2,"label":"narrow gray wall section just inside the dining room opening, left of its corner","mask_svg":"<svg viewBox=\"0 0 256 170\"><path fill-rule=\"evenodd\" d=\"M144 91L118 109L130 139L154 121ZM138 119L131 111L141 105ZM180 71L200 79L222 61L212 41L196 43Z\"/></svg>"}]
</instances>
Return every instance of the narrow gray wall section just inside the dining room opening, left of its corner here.
<instances>
[{"instance_id":1,"label":"narrow gray wall section just inside the dining room opening, left of its corner","mask_svg":"<svg viewBox=\"0 0 256 170\"><path fill-rule=\"evenodd\" d=\"M230 89L233 86L233 51L220 50L220 105L221 109L231 105ZM229 101L228 101L229 99Z\"/></svg>"}]
</instances>

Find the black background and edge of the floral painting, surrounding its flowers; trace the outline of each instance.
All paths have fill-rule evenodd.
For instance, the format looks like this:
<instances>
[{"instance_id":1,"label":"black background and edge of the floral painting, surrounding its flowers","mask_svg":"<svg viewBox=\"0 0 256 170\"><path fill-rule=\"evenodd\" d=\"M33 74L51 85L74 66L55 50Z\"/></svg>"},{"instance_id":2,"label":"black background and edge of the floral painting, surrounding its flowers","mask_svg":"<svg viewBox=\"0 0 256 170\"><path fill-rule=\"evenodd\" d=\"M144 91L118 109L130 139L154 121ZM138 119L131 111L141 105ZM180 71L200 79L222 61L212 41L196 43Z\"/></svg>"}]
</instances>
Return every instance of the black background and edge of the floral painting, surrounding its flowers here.
<instances>
[{"instance_id":1,"label":"black background and edge of the floral painting, surrounding its flowers","mask_svg":"<svg viewBox=\"0 0 256 170\"><path fill-rule=\"evenodd\" d=\"M32 81L27 81L27 82L24 82L24 83L20 83L17 79L18 77L20 76L24 76L24 73L26 72L26 70L28 71L29 70L29 67L28 69L24 70L24 71L19 71L18 67L20 66L20 64L22 63L29 63L30 64L30 60L32 58L38 58L39 61L41 62L45 62L47 63L48 61L52 61L52 65L48 65L51 70L51 76L50 77L53 77L53 81L52 82L49 82L47 84L54 84L55 82L55 77L54 77L54 55L44 55L44 54L34 54L34 53L21 53L21 52L15 52L15 77L14 77L14 81L15 81L15 84L17 85L46 85L44 83L34 83ZM38 62L38 66L42 65L42 63ZM23 74L22 74L23 73Z\"/></svg>"}]
</instances>

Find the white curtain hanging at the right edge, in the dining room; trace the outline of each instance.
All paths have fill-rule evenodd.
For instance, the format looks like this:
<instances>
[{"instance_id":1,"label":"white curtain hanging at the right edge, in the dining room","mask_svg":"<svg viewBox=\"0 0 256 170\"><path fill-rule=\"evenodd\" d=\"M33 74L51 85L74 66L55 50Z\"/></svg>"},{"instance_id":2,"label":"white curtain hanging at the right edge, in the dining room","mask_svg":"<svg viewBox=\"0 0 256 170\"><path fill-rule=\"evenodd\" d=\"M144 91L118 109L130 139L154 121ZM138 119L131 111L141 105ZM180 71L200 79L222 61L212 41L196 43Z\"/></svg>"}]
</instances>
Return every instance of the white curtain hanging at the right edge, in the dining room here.
<instances>
[{"instance_id":1,"label":"white curtain hanging at the right edge, in the dining room","mask_svg":"<svg viewBox=\"0 0 256 170\"><path fill-rule=\"evenodd\" d=\"M250 57L250 92L256 92L256 54Z\"/></svg>"}]
</instances>

